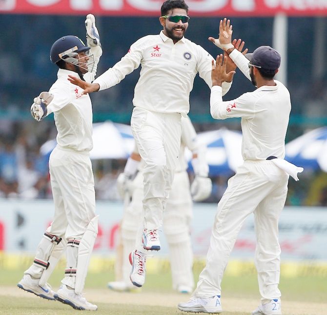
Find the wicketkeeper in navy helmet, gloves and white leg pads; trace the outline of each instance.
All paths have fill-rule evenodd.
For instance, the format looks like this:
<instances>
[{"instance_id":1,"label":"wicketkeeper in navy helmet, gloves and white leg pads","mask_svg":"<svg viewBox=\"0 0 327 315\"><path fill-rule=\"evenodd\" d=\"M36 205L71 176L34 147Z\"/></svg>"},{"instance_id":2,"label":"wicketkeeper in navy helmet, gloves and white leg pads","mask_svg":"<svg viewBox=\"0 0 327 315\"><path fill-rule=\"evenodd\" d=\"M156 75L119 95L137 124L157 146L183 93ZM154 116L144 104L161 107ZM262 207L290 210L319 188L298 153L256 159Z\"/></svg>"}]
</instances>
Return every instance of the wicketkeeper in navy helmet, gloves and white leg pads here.
<instances>
[{"instance_id":1,"label":"wicketkeeper in navy helmet, gloves and white leg pads","mask_svg":"<svg viewBox=\"0 0 327 315\"><path fill-rule=\"evenodd\" d=\"M98 233L89 158L93 147L92 104L89 95L82 95L82 89L67 80L68 74L76 72L88 82L96 75L102 48L93 15L87 15L85 25L89 46L72 35L52 45L50 59L60 67L58 79L49 92L41 92L34 99L31 107L32 116L38 121L54 113L58 135L49 170L55 214L37 248L33 265L24 272L18 286L75 309L97 310L97 306L87 302L81 294ZM61 288L54 293L46 281L65 249L65 276Z\"/></svg>"}]
</instances>

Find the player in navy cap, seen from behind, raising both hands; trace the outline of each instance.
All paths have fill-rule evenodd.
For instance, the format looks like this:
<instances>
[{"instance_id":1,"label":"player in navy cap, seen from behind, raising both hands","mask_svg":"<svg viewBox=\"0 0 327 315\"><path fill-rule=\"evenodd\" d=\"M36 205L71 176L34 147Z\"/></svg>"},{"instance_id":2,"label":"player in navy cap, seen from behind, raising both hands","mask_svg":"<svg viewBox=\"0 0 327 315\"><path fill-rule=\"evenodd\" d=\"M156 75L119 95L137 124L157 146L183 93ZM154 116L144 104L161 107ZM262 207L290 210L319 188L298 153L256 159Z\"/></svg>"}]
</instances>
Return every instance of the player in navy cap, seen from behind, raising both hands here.
<instances>
[{"instance_id":1,"label":"player in navy cap, seen from behind, raising both hands","mask_svg":"<svg viewBox=\"0 0 327 315\"><path fill-rule=\"evenodd\" d=\"M220 34L225 30L223 25L226 27L226 20L221 22ZM281 82L273 80L281 61L276 50L260 46L252 54L246 54L247 59L230 42L216 45L226 49L229 57L257 89L224 102L221 80L228 75L225 73L225 60L221 65L223 55L217 57L216 67L213 66L210 112L216 119L242 117L244 164L228 180L225 194L218 203L206 266L200 274L197 288L191 300L180 303L178 308L186 312L222 312L221 281L229 254L245 219L254 213L257 238L255 265L262 305L252 314L279 315L282 313L278 289L281 254L278 220L286 201L289 174L293 174L294 169L295 174L303 170L283 160L291 110L290 95ZM275 161L284 161L286 168L282 169Z\"/></svg>"}]
</instances>

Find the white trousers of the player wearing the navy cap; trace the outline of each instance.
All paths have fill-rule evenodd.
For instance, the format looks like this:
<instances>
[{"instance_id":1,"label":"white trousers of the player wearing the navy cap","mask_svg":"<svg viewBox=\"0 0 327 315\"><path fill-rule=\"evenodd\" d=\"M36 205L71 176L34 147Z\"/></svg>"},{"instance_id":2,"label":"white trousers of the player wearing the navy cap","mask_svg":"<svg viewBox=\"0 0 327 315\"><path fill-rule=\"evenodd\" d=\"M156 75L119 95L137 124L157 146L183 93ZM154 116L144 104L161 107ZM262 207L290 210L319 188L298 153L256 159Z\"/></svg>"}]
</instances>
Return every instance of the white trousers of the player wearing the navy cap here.
<instances>
[{"instance_id":1,"label":"white trousers of the player wearing the navy cap","mask_svg":"<svg viewBox=\"0 0 327 315\"><path fill-rule=\"evenodd\" d=\"M229 254L246 217L252 212L257 239L255 265L262 302L281 296L278 220L286 201L287 183L288 175L270 160L246 160L237 169L218 203L206 266L193 296L221 294Z\"/></svg>"}]
</instances>

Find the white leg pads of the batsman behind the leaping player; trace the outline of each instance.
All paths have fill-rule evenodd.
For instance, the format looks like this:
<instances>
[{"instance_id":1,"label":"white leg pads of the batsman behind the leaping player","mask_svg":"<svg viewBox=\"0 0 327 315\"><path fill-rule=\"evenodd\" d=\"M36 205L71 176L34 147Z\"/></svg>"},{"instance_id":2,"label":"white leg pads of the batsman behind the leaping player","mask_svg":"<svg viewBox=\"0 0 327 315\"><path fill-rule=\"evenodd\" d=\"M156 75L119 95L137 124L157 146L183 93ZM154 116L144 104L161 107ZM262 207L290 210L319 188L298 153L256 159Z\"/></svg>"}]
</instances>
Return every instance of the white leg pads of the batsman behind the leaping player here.
<instances>
[{"instance_id":1,"label":"white leg pads of the batsman behind the leaping player","mask_svg":"<svg viewBox=\"0 0 327 315\"><path fill-rule=\"evenodd\" d=\"M121 224L123 241L123 280L130 282L129 274L131 266L128 255L136 247L137 250L146 253L142 245L143 230L138 228L142 225L142 200L143 200L143 173L139 172L133 181L131 203L124 209ZM167 200L166 209L163 212L163 231L169 246L169 259L173 288L179 286L194 287L193 279L193 251L190 236L190 224L192 219L192 198L190 194L189 179L186 171L175 173L171 186L171 192Z\"/></svg>"}]
</instances>

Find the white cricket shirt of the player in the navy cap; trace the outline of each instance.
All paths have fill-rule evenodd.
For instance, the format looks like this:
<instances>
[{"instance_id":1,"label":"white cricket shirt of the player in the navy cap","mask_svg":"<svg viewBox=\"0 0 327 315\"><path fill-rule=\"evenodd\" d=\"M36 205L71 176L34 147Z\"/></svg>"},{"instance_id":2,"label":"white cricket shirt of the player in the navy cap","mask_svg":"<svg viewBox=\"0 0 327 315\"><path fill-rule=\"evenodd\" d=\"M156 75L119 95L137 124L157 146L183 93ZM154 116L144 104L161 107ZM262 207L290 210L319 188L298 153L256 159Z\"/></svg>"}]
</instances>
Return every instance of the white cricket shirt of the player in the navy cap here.
<instances>
[{"instance_id":1,"label":"white cricket shirt of the player in the navy cap","mask_svg":"<svg viewBox=\"0 0 327 315\"><path fill-rule=\"evenodd\" d=\"M246 77L249 61L237 49L229 54ZM291 102L289 91L275 80L275 86L263 86L240 97L223 101L222 88L213 86L210 112L213 118L242 117L242 155L244 160L260 160L270 156L285 157L285 136Z\"/></svg>"}]
</instances>

